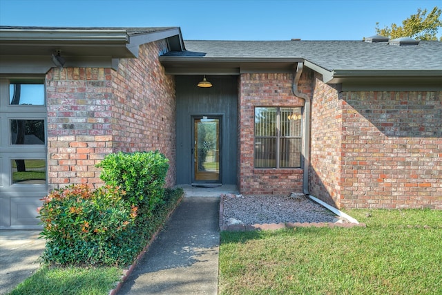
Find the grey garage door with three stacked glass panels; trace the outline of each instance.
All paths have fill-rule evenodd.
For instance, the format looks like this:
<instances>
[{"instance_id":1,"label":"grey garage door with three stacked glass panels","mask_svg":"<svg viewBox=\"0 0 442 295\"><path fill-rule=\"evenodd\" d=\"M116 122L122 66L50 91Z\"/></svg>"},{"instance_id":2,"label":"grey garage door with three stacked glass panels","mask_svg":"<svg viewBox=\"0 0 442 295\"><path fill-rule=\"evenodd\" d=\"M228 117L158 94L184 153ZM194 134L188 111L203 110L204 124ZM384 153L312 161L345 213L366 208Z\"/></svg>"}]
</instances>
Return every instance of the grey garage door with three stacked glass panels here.
<instances>
[{"instance_id":1,"label":"grey garage door with three stacked glass panels","mask_svg":"<svg viewBox=\"0 0 442 295\"><path fill-rule=\"evenodd\" d=\"M44 79L0 79L0 229L39 227L48 193Z\"/></svg>"}]
</instances>

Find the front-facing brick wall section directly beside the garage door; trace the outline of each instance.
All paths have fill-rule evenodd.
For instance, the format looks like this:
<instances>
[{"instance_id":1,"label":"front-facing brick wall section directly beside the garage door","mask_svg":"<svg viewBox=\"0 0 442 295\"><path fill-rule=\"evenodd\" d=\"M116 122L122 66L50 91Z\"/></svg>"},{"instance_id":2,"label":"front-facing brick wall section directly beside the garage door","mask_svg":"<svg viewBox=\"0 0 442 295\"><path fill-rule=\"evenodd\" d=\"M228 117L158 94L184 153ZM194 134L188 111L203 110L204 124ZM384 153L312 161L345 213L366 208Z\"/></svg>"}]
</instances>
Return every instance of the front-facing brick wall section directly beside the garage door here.
<instances>
[{"instance_id":1,"label":"front-facing brick wall section directly beside the garage door","mask_svg":"<svg viewBox=\"0 0 442 295\"><path fill-rule=\"evenodd\" d=\"M96 184L97 160L112 150L112 70L52 68L46 76L48 183Z\"/></svg>"}]
</instances>

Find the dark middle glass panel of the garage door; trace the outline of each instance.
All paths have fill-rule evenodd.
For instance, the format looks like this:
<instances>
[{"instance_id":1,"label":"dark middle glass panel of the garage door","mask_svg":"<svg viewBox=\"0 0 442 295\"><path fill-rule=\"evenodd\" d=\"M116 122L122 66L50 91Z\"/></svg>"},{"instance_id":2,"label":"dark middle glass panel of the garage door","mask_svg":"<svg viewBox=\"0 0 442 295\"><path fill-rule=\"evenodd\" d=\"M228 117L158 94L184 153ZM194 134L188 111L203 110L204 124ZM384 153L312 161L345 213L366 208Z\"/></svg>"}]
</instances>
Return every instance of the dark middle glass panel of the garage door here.
<instances>
[{"instance_id":1,"label":"dark middle glass panel of the garage door","mask_svg":"<svg viewBox=\"0 0 442 295\"><path fill-rule=\"evenodd\" d=\"M10 120L11 144L44 144L44 120Z\"/></svg>"}]
</instances>

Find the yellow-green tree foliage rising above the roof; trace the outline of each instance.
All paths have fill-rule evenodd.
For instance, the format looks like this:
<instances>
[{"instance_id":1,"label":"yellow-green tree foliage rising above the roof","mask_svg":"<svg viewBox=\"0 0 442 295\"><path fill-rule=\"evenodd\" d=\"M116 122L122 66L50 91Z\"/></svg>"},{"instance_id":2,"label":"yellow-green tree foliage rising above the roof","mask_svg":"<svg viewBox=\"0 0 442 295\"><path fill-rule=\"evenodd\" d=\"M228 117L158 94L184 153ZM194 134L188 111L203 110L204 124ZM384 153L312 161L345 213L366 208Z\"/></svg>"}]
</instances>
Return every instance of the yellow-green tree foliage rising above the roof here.
<instances>
[{"instance_id":1,"label":"yellow-green tree foliage rising above the roof","mask_svg":"<svg viewBox=\"0 0 442 295\"><path fill-rule=\"evenodd\" d=\"M442 28L441 12L442 10L436 6L427 15L426 9L419 8L416 15L411 15L402 21L402 26L392 23L390 27L385 26L381 29L379 23L376 23L376 34L390 39L412 37L420 40L437 40L436 34L439 28Z\"/></svg>"}]
</instances>

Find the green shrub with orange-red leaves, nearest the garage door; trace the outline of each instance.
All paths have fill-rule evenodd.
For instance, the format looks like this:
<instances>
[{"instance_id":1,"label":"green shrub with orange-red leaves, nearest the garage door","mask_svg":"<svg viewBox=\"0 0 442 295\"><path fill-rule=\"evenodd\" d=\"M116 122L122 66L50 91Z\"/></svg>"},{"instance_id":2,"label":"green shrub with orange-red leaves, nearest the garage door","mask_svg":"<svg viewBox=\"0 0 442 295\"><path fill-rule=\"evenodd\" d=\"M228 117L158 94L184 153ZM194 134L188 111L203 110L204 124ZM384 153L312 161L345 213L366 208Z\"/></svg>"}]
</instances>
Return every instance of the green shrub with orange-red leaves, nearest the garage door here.
<instances>
[{"instance_id":1,"label":"green shrub with orange-red leaves, nearest the garage door","mask_svg":"<svg viewBox=\"0 0 442 295\"><path fill-rule=\"evenodd\" d=\"M55 189L43 199L39 218L46 238L43 260L53 265L119 265L131 262L126 247L137 207L114 187L85 184Z\"/></svg>"}]
</instances>

